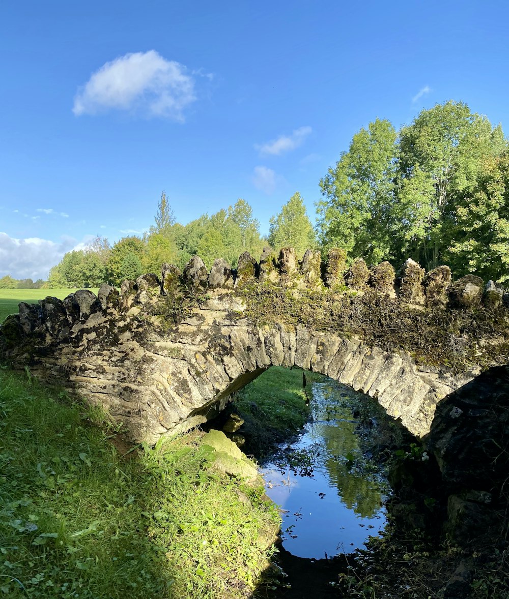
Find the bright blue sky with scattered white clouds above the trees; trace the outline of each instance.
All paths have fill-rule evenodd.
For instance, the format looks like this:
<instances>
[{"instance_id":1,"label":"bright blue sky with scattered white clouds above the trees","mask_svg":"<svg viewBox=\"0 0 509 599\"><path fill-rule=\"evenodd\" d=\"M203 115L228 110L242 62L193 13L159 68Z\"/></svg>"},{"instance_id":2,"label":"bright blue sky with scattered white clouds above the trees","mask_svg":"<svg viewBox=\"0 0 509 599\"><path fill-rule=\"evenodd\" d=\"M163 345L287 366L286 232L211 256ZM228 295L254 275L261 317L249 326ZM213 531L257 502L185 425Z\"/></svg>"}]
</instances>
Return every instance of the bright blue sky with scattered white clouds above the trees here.
<instances>
[{"instance_id":1,"label":"bright blue sky with scattered white clouds above the trees","mask_svg":"<svg viewBox=\"0 0 509 599\"><path fill-rule=\"evenodd\" d=\"M448 99L509 130L507 2L0 6L0 276L248 201L269 218L376 117Z\"/></svg>"}]
</instances>

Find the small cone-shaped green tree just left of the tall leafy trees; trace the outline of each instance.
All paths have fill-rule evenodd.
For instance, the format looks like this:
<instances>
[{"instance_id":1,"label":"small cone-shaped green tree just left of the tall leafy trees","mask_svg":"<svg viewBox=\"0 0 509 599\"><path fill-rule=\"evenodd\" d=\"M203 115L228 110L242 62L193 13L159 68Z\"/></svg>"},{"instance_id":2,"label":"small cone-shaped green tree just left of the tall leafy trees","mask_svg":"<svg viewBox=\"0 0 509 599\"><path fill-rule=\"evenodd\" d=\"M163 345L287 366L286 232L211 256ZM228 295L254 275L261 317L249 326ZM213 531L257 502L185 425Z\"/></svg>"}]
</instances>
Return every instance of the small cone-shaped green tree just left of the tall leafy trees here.
<instances>
[{"instance_id":1,"label":"small cone-shaped green tree just left of the tall leafy trees","mask_svg":"<svg viewBox=\"0 0 509 599\"><path fill-rule=\"evenodd\" d=\"M299 192L291 196L277 216L270 218L269 243L274 249L292 246L300 258L315 246L315 232Z\"/></svg>"}]
</instances>

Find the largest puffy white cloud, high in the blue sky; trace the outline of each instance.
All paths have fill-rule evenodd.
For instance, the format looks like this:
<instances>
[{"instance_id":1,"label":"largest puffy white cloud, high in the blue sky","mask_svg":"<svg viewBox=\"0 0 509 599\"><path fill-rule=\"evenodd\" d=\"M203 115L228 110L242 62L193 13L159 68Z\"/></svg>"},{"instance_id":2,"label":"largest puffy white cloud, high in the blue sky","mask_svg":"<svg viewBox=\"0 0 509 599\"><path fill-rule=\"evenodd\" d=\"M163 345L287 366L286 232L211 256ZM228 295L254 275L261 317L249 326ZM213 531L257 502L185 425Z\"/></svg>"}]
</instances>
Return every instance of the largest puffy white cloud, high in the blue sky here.
<instances>
[{"instance_id":1,"label":"largest puffy white cloud, high in the blue sky","mask_svg":"<svg viewBox=\"0 0 509 599\"><path fill-rule=\"evenodd\" d=\"M74 98L73 112L96 114L115 109L183 122L183 110L196 99L186 67L155 50L134 52L95 71Z\"/></svg>"}]
</instances>

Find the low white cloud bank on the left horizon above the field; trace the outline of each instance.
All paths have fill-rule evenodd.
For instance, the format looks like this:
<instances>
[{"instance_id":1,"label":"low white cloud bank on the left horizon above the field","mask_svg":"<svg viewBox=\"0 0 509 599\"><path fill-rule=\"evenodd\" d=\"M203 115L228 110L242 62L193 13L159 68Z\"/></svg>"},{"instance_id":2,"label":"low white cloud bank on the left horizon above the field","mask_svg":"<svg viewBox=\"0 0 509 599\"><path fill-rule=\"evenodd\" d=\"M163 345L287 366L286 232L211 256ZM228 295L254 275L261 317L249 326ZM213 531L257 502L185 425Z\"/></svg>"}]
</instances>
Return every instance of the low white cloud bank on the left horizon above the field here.
<instances>
[{"instance_id":1,"label":"low white cloud bank on the left horizon above the field","mask_svg":"<svg viewBox=\"0 0 509 599\"><path fill-rule=\"evenodd\" d=\"M56 243L39 237L16 239L0 232L0 277L10 274L14 279L46 279L50 268L74 247L76 240L71 237Z\"/></svg>"}]
</instances>

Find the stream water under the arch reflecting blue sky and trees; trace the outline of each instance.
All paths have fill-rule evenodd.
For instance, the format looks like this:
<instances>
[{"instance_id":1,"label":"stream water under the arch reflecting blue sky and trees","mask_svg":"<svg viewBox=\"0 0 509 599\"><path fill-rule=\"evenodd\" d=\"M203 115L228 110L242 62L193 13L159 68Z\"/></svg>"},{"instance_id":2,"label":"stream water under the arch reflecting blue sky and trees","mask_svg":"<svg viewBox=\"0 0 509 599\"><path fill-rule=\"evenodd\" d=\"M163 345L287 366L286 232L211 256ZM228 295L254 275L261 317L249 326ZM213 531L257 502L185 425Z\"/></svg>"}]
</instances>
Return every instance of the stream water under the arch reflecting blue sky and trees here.
<instances>
[{"instance_id":1,"label":"stream water under the arch reflecting blue sky and trees","mask_svg":"<svg viewBox=\"0 0 509 599\"><path fill-rule=\"evenodd\" d=\"M385 525L387 481L362 450L353 407L372 401L327 379L312 383L311 421L263 468L267 494L284 510L284 547L323 558L352 552Z\"/></svg>"}]
</instances>

